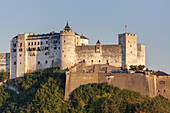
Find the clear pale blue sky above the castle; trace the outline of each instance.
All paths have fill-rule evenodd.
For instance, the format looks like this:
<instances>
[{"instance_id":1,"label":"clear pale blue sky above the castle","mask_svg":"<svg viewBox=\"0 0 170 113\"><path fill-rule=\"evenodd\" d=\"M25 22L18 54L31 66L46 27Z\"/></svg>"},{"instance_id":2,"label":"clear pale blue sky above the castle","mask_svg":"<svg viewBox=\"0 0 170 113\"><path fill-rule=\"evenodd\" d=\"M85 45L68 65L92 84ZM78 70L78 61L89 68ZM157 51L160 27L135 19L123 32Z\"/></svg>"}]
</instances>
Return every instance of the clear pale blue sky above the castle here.
<instances>
[{"instance_id":1,"label":"clear pale blue sky above the castle","mask_svg":"<svg viewBox=\"0 0 170 113\"><path fill-rule=\"evenodd\" d=\"M146 44L146 67L170 73L170 0L1 0L0 52L17 34L59 32L67 20L90 44L117 44L127 24Z\"/></svg>"}]
</instances>

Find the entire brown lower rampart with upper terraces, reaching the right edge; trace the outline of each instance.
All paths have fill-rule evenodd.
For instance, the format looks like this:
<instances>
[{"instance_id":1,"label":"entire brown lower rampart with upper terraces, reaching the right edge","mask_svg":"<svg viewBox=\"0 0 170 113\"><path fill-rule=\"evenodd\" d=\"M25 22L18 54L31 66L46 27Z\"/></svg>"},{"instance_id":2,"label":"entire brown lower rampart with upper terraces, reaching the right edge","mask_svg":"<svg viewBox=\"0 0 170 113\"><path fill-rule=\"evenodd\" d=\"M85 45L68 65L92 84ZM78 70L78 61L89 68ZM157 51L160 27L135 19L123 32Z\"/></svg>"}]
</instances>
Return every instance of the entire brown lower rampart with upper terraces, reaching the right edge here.
<instances>
[{"instance_id":1,"label":"entire brown lower rampart with upper terraces, reaching the right edge","mask_svg":"<svg viewBox=\"0 0 170 113\"><path fill-rule=\"evenodd\" d=\"M81 66L80 66L81 65ZM83 68L78 68L83 67ZM101 70L100 65L93 65L92 71L90 66L86 66L85 62L79 66L68 69L66 71L65 99L69 99L72 92L88 83L103 83L119 87L120 89L128 89L140 92L142 95L154 97L163 95L170 99L170 77L157 77L156 75L145 73L111 73ZM104 66L103 66L104 67ZM105 69L109 67L105 65ZM83 70L82 70L83 69ZM112 70L110 68L110 70ZM107 71L110 71L107 70Z\"/></svg>"}]
</instances>

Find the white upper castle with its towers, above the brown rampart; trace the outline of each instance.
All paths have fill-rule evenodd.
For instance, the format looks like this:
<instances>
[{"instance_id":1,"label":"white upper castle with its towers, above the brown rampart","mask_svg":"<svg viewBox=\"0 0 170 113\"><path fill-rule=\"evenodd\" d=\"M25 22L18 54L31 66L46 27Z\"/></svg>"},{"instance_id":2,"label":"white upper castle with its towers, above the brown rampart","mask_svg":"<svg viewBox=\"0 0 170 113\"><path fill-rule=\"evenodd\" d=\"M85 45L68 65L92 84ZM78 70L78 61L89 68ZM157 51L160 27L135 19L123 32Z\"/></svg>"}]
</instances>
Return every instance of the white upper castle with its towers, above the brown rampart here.
<instances>
[{"instance_id":1,"label":"white upper castle with its towers, above the brown rampart","mask_svg":"<svg viewBox=\"0 0 170 113\"><path fill-rule=\"evenodd\" d=\"M38 69L59 67L64 70L86 61L87 65L109 64L129 68L145 65L145 45L137 44L136 34L119 34L119 44L88 45L88 38L71 30L68 23L60 33L18 34L11 40L10 76L23 77Z\"/></svg>"}]
</instances>

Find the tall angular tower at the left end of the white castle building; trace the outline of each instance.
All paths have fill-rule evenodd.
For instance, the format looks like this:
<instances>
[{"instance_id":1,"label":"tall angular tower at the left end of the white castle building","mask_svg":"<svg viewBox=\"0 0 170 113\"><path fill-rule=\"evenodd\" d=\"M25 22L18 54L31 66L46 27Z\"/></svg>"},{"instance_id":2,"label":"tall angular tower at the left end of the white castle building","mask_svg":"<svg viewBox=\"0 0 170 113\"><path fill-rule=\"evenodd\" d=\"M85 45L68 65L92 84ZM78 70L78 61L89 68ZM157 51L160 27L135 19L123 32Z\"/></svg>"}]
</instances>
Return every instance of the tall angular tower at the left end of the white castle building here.
<instances>
[{"instance_id":1,"label":"tall angular tower at the left end of the white castle building","mask_svg":"<svg viewBox=\"0 0 170 113\"><path fill-rule=\"evenodd\" d=\"M19 34L11 40L10 77L23 77L25 73L25 38L28 34Z\"/></svg>"}]
</instances>

